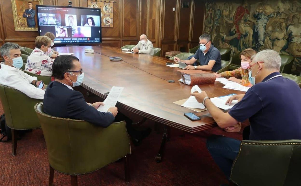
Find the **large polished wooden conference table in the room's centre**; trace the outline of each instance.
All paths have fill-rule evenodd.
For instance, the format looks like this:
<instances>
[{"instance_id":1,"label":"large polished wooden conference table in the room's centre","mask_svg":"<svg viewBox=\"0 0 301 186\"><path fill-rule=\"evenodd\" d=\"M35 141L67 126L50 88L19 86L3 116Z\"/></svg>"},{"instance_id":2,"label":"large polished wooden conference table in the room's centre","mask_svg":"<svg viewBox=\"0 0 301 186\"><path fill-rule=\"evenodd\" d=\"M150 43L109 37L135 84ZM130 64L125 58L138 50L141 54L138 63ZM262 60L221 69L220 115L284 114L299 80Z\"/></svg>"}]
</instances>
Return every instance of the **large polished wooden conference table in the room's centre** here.
<instances>
[{"instance_id":1,"label":"large polished wooden conference table in the room's centre","mask_svg":"<svg viewBox=\"0 0 301 186\"><path fill-rule=\"evenodd\" d=\"M84 49L94 49L95 53L85 53ZM74 53L78 57L85 78L82 87L105 99L104 93L112 86L124 87L117 102L117 107L129 110L145 118L152 119L183 131L194 133L216 127L216 123L208 111L195 113L191 109L181 107L173 102L188 98L191 87L178 81L180 68L166 66L170 60L148 54L130 54L119 48L108 46L76 46L59 47L60 53ZM110 61L109 56L118 56L123 61ZM174 83L168 83L174 80ZM209 97L223 96L231 93L244 92L222 88L219 82L199 85ZM201 119L191 121L183 114L194 112ZM156 156L160 162L166 141L164 135L160 151Z\"/></svg>"}]
</instances>

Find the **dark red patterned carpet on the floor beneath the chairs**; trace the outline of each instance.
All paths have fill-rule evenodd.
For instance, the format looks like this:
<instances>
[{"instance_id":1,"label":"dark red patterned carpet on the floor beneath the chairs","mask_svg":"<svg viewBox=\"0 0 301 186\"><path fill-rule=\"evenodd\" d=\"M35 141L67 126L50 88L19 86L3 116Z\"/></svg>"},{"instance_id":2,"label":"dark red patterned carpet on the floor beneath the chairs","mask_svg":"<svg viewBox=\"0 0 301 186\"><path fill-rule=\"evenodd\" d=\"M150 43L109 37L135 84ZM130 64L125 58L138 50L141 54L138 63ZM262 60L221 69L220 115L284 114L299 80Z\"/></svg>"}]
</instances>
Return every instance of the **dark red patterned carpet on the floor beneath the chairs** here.
<instances>
[{"instance_id":1,"label":"dark red patterned carpet on the floor beneath the chairs","mask_svg":"<svg viewBox=\"0 0 301 186\"><path fill-rule=\"evenodd\" d=\"M0 113L3 113L0 104ZM147 121L143 127L153 127ZM115 162L91 174L79 175L79 186L96 185L198 185L216 186L226 182L222 172L213 162L206 149L206 137L211 134L227 135L240 139L240 133L227 133L213 128L196 134L171 129L166 143L164 159L154 160L162 134L152 131L139 147L132 146L131 181L124 182L123 162ZM11 143L0 142L0 186L42 186L48 185L48 156L41 129L26 133L18 141L17 155L11 155ZM71 185L70 176L54 174L55 186Z\"/></svg>"}]
</instances>

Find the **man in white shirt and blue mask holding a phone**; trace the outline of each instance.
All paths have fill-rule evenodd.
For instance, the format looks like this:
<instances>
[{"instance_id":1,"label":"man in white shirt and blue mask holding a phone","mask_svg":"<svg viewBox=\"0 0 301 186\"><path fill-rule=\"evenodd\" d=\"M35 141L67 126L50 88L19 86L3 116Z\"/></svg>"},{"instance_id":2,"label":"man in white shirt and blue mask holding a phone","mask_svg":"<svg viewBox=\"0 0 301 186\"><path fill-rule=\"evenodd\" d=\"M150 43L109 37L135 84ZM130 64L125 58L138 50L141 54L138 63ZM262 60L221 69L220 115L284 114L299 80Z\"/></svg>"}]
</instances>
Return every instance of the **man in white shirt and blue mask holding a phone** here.
<instances>
[{"instance_id":1,"label":"man in white shirt and blue mask holding a phone","mask_svg":"<svg viewBox=\"0 0 301 186\"><path fill-rule=\"evenodd\" d=\"M0 48L0 53L4 59L0 69L0 84L17 89L31 98L44 99L44 87L36 87L41 81L19 69L23 65L20 46L16 43L5 43Z\"/></svg>"}]
</instances>

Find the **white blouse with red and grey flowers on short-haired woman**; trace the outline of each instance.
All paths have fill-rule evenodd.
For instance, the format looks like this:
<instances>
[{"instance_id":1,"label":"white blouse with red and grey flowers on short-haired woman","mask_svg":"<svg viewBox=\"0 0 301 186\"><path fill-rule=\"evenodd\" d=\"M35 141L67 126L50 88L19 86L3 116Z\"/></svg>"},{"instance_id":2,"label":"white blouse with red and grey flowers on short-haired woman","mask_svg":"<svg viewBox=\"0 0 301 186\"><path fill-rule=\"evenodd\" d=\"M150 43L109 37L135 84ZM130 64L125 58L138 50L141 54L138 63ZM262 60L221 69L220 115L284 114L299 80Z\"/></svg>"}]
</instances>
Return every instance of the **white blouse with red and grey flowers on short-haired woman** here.
<instances>
[{"instance_id":1,"label":"white blouse with red and grey flowers on short-haired woman","mask_svg":"<svg viewBox=\"0 0 301 186\"><path fill-rule=\"evenodd\" d=\"M35 48L28 56L25 71L41 75L52 76L53 60L41 49Z\"/></svg>"}]
</instances>

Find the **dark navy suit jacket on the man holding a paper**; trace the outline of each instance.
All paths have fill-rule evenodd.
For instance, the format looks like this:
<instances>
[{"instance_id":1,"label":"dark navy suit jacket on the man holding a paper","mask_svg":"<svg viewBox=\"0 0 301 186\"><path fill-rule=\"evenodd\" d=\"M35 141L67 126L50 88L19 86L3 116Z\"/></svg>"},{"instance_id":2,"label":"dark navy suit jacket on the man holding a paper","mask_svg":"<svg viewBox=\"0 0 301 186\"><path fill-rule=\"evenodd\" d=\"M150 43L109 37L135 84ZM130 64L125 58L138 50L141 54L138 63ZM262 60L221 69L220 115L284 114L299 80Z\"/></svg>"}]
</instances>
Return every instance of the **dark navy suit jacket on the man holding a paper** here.
<instances>
[{"instance_id":1,"label":"dark navy suit jacket on the man holding a paper","mask_svg":"<svg viewBox=\"0 0 301 186\"><path fill-rule=\"evenodd\" d=\"M85 120L101 127L108 127L115 120L113 114L99 112L85 102L82 93L58 81L47 86L43 102L44 112L55 117Z\"/></svg>"}]
</instances>

